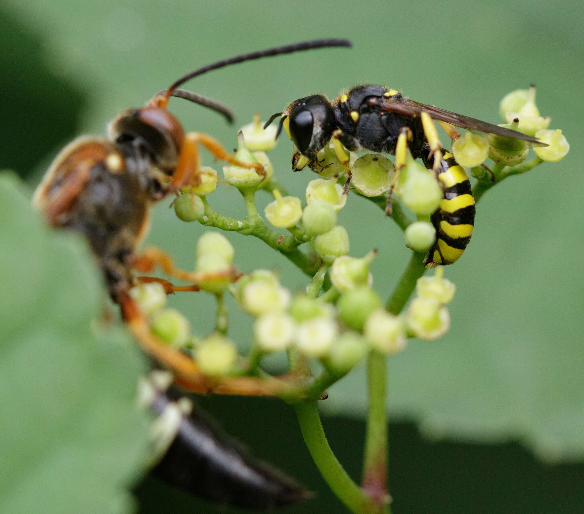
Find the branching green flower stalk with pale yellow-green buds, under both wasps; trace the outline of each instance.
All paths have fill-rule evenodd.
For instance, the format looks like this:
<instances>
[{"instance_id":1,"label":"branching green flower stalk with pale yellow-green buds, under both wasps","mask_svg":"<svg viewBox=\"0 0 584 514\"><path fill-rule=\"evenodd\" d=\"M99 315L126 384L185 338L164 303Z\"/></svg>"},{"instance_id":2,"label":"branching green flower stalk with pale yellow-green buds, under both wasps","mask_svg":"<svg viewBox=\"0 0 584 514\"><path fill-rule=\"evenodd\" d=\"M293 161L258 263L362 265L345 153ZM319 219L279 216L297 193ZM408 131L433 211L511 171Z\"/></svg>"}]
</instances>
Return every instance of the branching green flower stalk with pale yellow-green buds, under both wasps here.
<instances>
[{"instance_id":1,"label":"branching green flower stalk with pale yellow-green buds, under both wasps","mask_svg":"<svg viewBox=\"0 0 584 514\"><path fill-rule=\"evenodd\" d=\"M472 188L475 202L505 178L526 173L544 161L559 161L568 153L569 145L561 131L547 129L550 118L540 117L534 105L524 105L533 99L534 91L528 94L520 90L507 95L500 105L500 113L507 121L505 126L524 130L548 144L534 148L536 157L531 160L526 160L527 144L515 139L500 136L486 139L467 133L453 143L454 158L471 168L477 180ZM337 224L337 213L345 207L347 195L336 182L339 173L344 173L346 162L341 163L333 151L325 152L327 164L321 176L308 184L303 206L304 202L288 194L274 176L265 153L274 142L265 137L260 126L258 118L253 130L248 127L239 133L235 157L244 163L261 162L266 177L253 169L224 167L225 181L237 187L243 196L245 218L230 218L211 209L207 196L217 187L217 173L211 168L206 168L202 184L182 189L182 195L175 201L175 211L183 221L197 220L201 225L225 232L255 236L279 251L311 277L303 294L291 294L272 271L253 270L240 277L232 264L233 247L219 232L207 232L200 237L194 274L175 275L201 277L196 281L197 287L215 296L217 316L213 333L190 336L186 318L178 311L164 308L161 288L141 287L133 294L150 315L151 329L169 345L182 349L182 358L185 353L192 354L203 374L210 377L210 383L218 386L218 392L275 395L294 406L315 464L347 509L354 514L389 514L387 357L403 351L409 337L430 341L449 330L446 304L456 287L443 277L442 266L433 275L423 276L424 258L436 242L438 228L430 215L446 199L443 200L434 175L409 156L395 189L397 198L392 197L391 218L404 231L405 244L412 249L411 259L384 304L373 289L369 271L377 250L371 249L362 257L350 256L349 234ZM256 151L248 150L246 143ZM485 165L486 158L491 158L493 164ZM324 163L324 158L321 161ZM364 196L385 211L394 165L388 158L372 154L352 156L350 162L350 195ZM340 171L330 173L331 170ZM255 195L260 189L273 198L263 212L267 223L256 208ZM406 213L405 206L416 221ZM287 233L277 232L268 223ZM314 250L304 253L300 247L309 242ZM225 291L255 318L254 340L247 358L239 356L235 343L227 336ZM262 369L263 357L274 351L286 351L288 357L289 370L280 377ZM317 403L326 399L327 388L363 360L367 362L369 410L363 484L359 487L332 453ZM311 361L318 361L322 369L316 377L311 372Z\"/></svg>"}]
</instances>

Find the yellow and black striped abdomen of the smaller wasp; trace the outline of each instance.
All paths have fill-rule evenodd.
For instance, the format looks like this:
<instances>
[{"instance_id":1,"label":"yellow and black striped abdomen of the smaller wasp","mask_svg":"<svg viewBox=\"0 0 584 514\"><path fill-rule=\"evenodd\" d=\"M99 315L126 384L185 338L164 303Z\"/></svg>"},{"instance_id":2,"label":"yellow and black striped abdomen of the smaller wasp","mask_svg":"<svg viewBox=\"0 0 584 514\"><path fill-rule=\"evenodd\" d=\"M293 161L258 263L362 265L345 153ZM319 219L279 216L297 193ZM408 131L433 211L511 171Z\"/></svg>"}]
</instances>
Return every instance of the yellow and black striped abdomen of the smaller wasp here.
<instances>
[{"instance_id":1,"label":"yellow and black striped abdomen of the smaller wasp","mask_svg":"<svg viewBox=\"0 0 584 514\"><path fill-rule=\"evenodd\" d=\"M443 159L438 179L444 193L430 218L436 229L436 243L424 259L427 267L456 262L470 242L474 229L475 202L464 168L452 157Z\"/></svg>"}]
</instances>

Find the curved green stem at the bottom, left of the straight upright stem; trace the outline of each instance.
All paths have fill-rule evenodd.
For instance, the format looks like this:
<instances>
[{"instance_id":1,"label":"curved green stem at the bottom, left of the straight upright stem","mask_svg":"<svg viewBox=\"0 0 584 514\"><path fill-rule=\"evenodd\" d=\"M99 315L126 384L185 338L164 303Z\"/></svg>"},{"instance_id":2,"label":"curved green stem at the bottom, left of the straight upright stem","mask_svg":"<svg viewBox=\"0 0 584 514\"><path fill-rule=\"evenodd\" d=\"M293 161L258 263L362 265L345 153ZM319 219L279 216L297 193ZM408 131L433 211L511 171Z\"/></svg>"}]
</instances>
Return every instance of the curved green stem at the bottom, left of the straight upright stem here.
<instances>
[{"instance_id":1,"label":"curved green stem at the bottom, left of the straight upright stem","mask_svg":"<svg viewBox=\"0 0 584 514\"><path fill-rule=\"evenodd\" d=\"M332 492L354 514L381 514L383 507L377 505L353 482L332 453L322 430L316 402L300 402L294 405L304 442L322 477Z\"/></svg>"}]
</instances>

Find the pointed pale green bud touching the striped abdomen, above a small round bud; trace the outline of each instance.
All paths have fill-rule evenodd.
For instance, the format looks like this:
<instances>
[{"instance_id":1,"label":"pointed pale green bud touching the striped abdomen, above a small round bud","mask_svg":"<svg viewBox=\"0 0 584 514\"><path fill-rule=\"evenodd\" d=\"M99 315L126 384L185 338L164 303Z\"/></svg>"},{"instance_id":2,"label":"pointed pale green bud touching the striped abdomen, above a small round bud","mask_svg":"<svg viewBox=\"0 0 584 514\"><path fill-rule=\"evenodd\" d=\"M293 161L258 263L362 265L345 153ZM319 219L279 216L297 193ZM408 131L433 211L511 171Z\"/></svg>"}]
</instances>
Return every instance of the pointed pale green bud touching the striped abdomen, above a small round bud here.
<instances>
[{"instance_id":1,"label":"pointed pale green bud touching the striped abdomen, above a small round bud","mask_svg":"<svg viewBox=\"0 0 584 514\"><path fill-rule=\"evenodd\" d=\"M432 171L413 160L408 160L401 171L395 194L415 214L432 214L442 200L442 188Z\"/></svg>"}]
</instances>

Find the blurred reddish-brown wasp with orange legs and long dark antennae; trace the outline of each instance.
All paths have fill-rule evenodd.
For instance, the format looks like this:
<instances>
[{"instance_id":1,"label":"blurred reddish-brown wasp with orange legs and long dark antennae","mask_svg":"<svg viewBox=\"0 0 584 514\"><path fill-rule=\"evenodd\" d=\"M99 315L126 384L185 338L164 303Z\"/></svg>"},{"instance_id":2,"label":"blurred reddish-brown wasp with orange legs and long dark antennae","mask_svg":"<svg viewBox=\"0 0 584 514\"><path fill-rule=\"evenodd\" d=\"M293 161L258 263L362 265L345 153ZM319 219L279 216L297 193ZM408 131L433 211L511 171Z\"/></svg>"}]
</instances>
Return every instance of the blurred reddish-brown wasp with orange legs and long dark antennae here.
<instances>
[{"instance_id":1,"label":"blurred reddish-brown wasp with orange legs and long dark antennae","mask_svg":"<svg viewBox=\"0 0 584 514\"><path fill-rule=\"evenodd\" d=\"M346 40L325 39L242 54L189 73L156 95L142 108L116 116L107 129L107 139L83 136L69 143L55 157L34 193L34 205L56 227L77 230L87 237L105 274L112 299L119 303L124 320L142 348L159 364L171 368L176 381L200 393L277 394L274 381L253 377L210 380L199 372L186 354L158 341L147 320L128 295L135 284L133 268L142 271L159 263L175 277L197 282L197 274L176 270L160 250L137 258L136 247L148 232L152 203L185 185L201 180L198 144L215 158L265 174L261 164L235 160L213 137L185 133L168 110L171 96L189 99L221 113L232 121L230 109L210 98L178 89L190 78L226 65L322 47L351 46ZM235 275L234 275L235 277ZM158 280L141 277L142 281ZM161 281L167 292L198 290L196 284L173 287ZM158 391L152 408L162 412L172 401ZM169 453L159 463L157 474L187 491L231 505L267 509L307 498L308 493L293 479L253 459L201 420L197 413L180 422Z\"/></svg>"}]
</instances>

